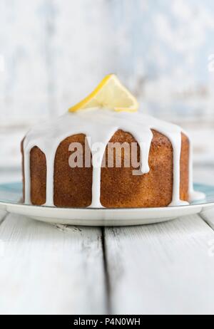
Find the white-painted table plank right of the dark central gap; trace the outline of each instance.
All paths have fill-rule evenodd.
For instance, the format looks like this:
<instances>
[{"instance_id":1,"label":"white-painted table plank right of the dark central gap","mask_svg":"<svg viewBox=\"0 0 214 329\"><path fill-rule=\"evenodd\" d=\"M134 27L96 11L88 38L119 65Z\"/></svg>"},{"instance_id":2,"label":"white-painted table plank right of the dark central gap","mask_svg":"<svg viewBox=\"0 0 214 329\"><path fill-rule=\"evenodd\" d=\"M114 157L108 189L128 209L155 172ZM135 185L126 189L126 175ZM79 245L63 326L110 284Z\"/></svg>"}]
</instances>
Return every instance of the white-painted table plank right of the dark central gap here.
<instances>
[{"instance_id":1,"label":"white-painted table plank right of the dark central gap","mask_svg":"<svg viewBox=\"0 0 214 329\"><path fill-rule=\"evenodd\" d=\"M200 216L106 229L111 312L214 313L213 239Z\"/></svg>"}]
</instances>

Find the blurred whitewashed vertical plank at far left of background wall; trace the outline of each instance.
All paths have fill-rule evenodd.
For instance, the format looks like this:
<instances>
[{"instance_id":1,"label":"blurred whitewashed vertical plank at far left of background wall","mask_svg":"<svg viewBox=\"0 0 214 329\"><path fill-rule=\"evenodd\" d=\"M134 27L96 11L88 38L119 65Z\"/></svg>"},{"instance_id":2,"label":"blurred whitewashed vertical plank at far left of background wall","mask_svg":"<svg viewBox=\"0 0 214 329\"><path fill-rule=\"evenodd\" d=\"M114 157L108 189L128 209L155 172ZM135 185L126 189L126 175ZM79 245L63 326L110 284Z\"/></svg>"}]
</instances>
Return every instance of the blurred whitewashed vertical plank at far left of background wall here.
<instances>
[{"instance_id":1,"label":"blurred whitewashed vertical plank at far left of background wall","mask_svg":"<svg viewBox=\"0 0 214 329\"><path fill-rule=\"evenodd\" d=\"M34 124L48 116L46 7L49 1L0 1L0 122Z\"/></svg>"}]
</instances>

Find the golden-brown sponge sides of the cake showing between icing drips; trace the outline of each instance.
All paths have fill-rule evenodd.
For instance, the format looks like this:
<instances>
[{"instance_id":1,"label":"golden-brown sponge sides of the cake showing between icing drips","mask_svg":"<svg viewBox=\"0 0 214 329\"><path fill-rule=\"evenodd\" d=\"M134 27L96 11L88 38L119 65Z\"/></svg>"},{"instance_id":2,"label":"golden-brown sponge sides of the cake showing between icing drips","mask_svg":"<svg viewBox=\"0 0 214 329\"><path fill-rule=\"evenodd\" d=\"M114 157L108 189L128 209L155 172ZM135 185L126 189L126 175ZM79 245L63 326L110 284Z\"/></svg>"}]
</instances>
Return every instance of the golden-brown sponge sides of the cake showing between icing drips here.
<instances>
[{"instance_id":1,"label":"golden-brown sponge sides of the cake showing between icing drips","mask_svg":"<svg viewBox=\"0 0 214 329\"><path fill-rule=\"evenodd\" d=\"M88 207L91 204L92 168L71 168L68 159L71 142L84 147L85 135L78 134L63 140L56 152L54 164L54 204L57 207ZM131 134L118 130L110 142L136 142ZM138 160L139 160L138 146ZM106 149L106 161L108 152ZM114 156L114 162L115 162ZM180 199L188 201L189 141L182 134L180 155ZM124 159L122 159L124 164ZM167 137L153 130L149 155L150 172L134 176L133 167L103 167L101 169L101 204L103 207L166 207L173 192L173 148ZM34 147L31 150L31 202L46 201L46 158Z\"/></svg>"}]
</instances>

